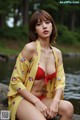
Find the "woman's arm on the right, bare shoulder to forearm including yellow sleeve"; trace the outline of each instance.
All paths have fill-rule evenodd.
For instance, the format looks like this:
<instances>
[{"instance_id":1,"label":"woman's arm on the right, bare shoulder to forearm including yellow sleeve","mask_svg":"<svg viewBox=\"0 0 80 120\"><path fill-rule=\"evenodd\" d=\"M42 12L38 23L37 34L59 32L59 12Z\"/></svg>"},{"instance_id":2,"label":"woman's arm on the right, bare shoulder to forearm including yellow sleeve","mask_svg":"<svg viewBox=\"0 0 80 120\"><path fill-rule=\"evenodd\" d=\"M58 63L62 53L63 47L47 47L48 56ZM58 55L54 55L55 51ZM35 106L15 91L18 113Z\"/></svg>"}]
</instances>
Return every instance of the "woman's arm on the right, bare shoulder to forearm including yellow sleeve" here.
<instances>
[{"instance_id":1,"label":"woman's arm on the right, bare shoulder to forearm including yellow sleeve","mask_svg":"<svg viewBox=\"0 0 80 120\"><path fill-rule=\"evenodd\" d=\"M62 53L60 50L56 49L56 54L58 56L57 63L57 76L55 81L55 101L60 101L64 87L65 87L65 73L63 68Z\"/></svg>"}]
</instances>

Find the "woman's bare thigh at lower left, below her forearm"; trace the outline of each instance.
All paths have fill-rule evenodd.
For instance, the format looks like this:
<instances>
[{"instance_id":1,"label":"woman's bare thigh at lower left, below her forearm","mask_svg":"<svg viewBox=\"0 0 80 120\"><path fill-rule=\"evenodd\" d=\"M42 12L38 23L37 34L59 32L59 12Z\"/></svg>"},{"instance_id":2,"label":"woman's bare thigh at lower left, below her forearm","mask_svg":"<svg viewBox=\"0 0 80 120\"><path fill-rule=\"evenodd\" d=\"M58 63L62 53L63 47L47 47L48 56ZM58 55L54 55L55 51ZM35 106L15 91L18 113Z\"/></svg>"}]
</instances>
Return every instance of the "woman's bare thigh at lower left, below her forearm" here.
<instances>
[{"instance_id":1,"label":"woman's bare thigh at lower left, below her forearm","mask_svg":"<svg viewBox=\"0 0 80 120\"><path fill-rule=\"evenodd\" d=\"M19 120L46 120L42 113L25 99L18 106L17 118Z\"/></svg>"}]
</instances>

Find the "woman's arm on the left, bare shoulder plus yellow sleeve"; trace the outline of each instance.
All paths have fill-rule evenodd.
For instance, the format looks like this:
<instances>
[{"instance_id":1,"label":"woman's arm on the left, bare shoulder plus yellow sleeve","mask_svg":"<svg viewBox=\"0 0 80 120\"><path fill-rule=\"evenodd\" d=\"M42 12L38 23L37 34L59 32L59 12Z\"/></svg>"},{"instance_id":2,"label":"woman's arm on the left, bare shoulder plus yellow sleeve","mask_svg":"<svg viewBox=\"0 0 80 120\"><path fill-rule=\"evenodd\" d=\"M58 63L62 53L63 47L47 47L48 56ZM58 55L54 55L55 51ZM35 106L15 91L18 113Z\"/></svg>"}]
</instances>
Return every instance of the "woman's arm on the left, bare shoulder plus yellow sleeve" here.
<instances>
[{"instance_id":1,"label":"woman's arm on the left, bare shoulder plus yellow sleeve","mask_svg":"<svg viewBox=\"0 0 80 120\"><path fill-rule=\"evenodd\" d=\"M32 49L32 43L30 43L27 44L22 50L22 52L18 55L10 80L10 87L9 87L10 92L8 93L8 96L16 94L18 90L26 89L24 83L25 83L26 75L29 71L29 66L30 66L29 60L32 58L33 53L34 53L34 49Z\"/></svg>"}]
</instances>

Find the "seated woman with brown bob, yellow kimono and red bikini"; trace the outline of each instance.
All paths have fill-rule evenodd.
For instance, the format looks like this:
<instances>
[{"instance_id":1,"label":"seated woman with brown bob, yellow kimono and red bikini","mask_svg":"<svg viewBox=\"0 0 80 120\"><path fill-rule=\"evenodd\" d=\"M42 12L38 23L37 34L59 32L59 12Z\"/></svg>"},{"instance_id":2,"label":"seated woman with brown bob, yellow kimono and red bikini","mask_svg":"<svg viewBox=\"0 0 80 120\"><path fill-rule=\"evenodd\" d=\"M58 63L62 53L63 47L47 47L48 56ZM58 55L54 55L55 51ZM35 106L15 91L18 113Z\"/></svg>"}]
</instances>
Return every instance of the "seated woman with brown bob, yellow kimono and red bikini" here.
<instances>
[{"instance_id":1,"label":"seated woman with brown bob, yellow kimono and red bikini","mask_svg":"<svg viewBox=\"0 0 80 120\"><path fill-rule=\"evenodd\" d=\"M72 120L73 106L62 100L65 74L62 55L50 43L56 38L56 26L44 10L30 20L30 43L26 44L14 67L8 100L11 120L47 120L60 115Z\"/></svg>"}]
</instances>

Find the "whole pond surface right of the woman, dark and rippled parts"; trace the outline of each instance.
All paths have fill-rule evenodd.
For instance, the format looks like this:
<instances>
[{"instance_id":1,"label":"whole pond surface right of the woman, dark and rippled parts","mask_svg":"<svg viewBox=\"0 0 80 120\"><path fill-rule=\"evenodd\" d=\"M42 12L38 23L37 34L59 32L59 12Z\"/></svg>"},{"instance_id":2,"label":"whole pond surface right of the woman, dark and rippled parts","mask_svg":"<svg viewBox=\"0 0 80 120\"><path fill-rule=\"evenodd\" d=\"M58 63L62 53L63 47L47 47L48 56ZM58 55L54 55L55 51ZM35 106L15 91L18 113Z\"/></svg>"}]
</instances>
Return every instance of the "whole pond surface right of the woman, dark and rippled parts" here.
<instances>
[{"instance_id":1,"label":"whole pond surface right of the woman, dark and rippled parts","mask_svg":"<svg viewBox=\"0 0 80 120\"><path fill-rule=\"evenodd\" d=\"M80 57L64 57L66 73L65 99L71 101L74 113L80 115Z\"/></svg>"}]
</instances>

